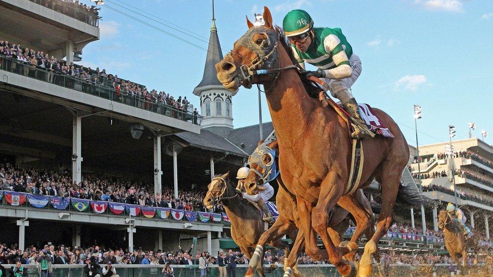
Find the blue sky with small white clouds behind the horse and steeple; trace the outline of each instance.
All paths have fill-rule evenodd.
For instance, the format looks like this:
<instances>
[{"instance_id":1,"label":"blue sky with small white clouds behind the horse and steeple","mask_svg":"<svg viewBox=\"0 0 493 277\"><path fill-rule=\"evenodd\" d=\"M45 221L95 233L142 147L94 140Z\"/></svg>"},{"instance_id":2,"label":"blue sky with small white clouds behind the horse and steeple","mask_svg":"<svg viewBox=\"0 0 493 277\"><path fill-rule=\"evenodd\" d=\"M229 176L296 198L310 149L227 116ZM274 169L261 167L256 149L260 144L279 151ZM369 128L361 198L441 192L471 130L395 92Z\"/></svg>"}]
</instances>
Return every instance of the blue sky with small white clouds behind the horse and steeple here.
<instances>
[{"instance_id":1,"label":"blue sky with small white clouds behind the horse and steeple","mask_svg":"<svg viewBox=\"0 0 493 277\"><path fill-rule=\"evenodd\" d=\"M193 32L195 38L142 20L207 48L202 40L209 38L211 1L105 2L100 12L101 39L83 49L80 64L106 68L150 89L187 96L198 106L199 98L192 91L202 80L206 51L108 7L124 11L115 4L138 5L174 28ZM245 15L252 18L263 6L271 9L278 25L288 11L301 8L312 15L315 26L340 27L362 60L363 72L353 86L356 99L385 110L412 145L416 144L413 104L423 109L418 122L420 144L448 140L450 124L457 127L457 139L467 138L468 121L477 125L474 136L487 130L491 135L485 141L493 143L493 1L216 0L215 5L223 49L230 49L247 30ZM256 89L244 88L233 97L235 127L258 123L257 99ZM270 121L265 98L263 118Z\"/></svg>"}]
</instances>

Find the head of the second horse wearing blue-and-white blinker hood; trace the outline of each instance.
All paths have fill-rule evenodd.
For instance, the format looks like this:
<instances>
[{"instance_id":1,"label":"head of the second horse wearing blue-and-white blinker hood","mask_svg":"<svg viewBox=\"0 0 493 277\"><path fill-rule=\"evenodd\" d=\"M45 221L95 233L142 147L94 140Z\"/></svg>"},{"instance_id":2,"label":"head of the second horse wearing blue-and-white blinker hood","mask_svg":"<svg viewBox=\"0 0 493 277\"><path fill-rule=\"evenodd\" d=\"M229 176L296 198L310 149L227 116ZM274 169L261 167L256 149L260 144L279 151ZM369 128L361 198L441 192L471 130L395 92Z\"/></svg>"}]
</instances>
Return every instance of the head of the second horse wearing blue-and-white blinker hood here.
<instances>
[{"instance_id":1,"label":"head of the second horse wearing blue-and-white blinker hood","mask_svg":"<svg viewBox=\"0 0 493 277\"><path fill-rule=\"evenodd\" d=\"M276 155L279 154L277 140L270 143L259 143L259 146L248 157L250 172L244 181L245 191L250 195L258 193L258 185L269 181L274 167Z\"/></svg>"}]
</instances>

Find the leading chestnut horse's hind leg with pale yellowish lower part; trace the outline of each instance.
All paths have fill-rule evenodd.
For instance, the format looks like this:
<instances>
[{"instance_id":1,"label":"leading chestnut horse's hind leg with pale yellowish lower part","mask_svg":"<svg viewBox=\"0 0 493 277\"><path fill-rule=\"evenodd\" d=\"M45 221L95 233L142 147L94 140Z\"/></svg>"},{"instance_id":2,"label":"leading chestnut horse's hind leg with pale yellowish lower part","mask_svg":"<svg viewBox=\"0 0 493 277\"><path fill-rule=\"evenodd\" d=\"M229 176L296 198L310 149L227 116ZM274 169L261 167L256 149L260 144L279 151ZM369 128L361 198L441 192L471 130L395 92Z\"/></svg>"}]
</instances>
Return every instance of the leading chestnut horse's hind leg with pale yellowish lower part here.
<instances>
[{"instance_id":1,"label":"leading chestnut horse's hind leg with pale yellowish lower part","mask_svg":"<svg viewBox=\"0 0 493 277\"><path fill-rule=\"evenodd\" d=\"M405 166L405 165L404 165ZM392 224L392 209L396 203L402 168L399 162L384 161L380 167L380 175L377 181L382 185L382 209L378 217L376 232L366 243L365 250L360 259L358 276L369 276L372 271L372 254L377 250L377 244L387 233Z\"/></svg>"}]
</instances>

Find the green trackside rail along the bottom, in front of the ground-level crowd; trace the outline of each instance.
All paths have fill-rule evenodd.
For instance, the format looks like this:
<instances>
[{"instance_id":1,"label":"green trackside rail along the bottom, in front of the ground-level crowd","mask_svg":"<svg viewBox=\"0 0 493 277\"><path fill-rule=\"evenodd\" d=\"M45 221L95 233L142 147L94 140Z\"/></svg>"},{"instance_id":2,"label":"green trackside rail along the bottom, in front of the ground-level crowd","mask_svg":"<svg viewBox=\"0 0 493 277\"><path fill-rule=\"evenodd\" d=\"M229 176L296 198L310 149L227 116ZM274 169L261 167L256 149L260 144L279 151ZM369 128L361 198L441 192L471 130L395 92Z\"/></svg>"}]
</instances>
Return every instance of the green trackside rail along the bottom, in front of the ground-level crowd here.
<instances>
[{"instance_id":1,"label":"green trackside rail along the bottom, in front of the ground-level crowd","mask_svg":"<svg viewBox=\"0 0 493 277\"><path fill-rule=\"evenodd\" d=\"M9 270L14 266L13 264L5 264L6 270ZM101 265L106 266L105 264ZM39 277L38 268L36 265L23 265L26 277ZM83 277L84 265L76 264L54 264L52 277ZM161 270L163 265L143 265L143 264L115 264L116 272L120 277L148 277L148 276L163 276ZM173 268L174 277L199 277L200 271L198 265L171 265ZM269 277L282 277L284 271L282 266L277 268L268 268L268 265L264 265L268 271L271 271ZM237 265L236 275L243 276L248 269L248 265ZM299 264L298 269L306 276L340 276L335 266L331 264ZM373 272L383 274L384 276L431 276L433 272L436 275L450 275L450 272L457 269L457 266L445 263L438 264L381 264L377 267L373 265ZM471 265L467 269L468 271L480 273L486 273L488 270L491 272L493 268L491 265L479 263ZM264 269L264 272L265 269ZM101 274L101 269L99 271ZM468 273L468 272L465 272ZM210 272L207 276L219 276L218 266L213 264L210 266Z\"/></svg>"}]
</instances>

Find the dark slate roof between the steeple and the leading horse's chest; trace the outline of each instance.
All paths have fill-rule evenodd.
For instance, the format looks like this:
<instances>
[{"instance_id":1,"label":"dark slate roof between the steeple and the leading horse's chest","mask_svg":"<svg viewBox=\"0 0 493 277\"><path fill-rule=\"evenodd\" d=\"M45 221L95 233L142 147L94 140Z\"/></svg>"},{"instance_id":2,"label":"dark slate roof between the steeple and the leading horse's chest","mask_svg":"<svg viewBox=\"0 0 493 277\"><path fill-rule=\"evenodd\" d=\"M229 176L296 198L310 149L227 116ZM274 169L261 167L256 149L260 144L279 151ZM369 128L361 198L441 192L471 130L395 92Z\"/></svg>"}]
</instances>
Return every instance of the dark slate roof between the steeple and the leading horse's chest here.
<instances>
[{"instance_id":1,"label":"dark slate roof between the steeple and the leading horse's chest","mask_svg":"<svg viewBox=\"0 0 493 277\"><path fill-rule=\"evenodd\" d=\"M265 122L262 124L264 138L267 137L272 130L274 130L272 122ZM255 148L257 148L260 140L259 125L256 124L233 129L229 132L227 139L250 155ZM244 147L241 147L241 144L244 144Z\"/></svg>"}]
</instances>

